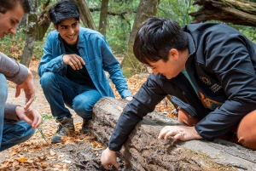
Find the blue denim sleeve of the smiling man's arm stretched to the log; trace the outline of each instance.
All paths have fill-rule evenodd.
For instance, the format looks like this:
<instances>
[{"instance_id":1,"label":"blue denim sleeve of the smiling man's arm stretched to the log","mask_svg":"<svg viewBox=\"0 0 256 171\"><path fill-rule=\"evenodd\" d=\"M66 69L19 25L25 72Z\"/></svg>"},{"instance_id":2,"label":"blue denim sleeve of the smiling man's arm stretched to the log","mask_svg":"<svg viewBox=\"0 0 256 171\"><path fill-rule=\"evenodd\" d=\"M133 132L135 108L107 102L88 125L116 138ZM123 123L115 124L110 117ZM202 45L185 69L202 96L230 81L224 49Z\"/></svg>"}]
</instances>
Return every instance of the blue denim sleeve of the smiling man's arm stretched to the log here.
<instances>
[{"instance_id":1,"label":"blue denim sleeve of the smiling man's arm stretched to the log","mask_svg":"<svg viewBox=\"0 0 256 171\"><path fill-rule=\"evenodd\" d=\"M113 53L104 37L102 37L101 50L103 69L108 71L110 79L112 80L122 99L127 96L132 96L131 91L128 89L123 72L119 66L119 61L113 56Z\"/></svg>"}]
</instances>

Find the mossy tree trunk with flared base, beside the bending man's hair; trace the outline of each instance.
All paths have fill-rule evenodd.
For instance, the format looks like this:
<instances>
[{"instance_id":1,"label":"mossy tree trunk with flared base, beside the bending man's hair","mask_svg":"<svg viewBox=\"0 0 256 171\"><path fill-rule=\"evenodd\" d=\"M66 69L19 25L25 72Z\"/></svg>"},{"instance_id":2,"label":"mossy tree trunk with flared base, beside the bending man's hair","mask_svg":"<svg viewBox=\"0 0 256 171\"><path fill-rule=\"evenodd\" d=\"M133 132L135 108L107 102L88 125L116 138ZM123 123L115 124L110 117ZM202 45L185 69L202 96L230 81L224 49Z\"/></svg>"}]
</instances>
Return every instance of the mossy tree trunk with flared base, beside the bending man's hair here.
<instances>
[{"instance_id":1,"label":"mossy tree trunk with flared base, beside the bending man's hair","mask_svg":"<svg viewBox=\"0 0 256 171\"><path fill-rule=\"evenodd\" d=\"M141 73L143 70L143 64L133 54L133 43L137 31L143 25L143 21L156 14L158 3L159 0L141 0L137 8L137 15L132 26L127 51L121 64L125 77L131 77L134 74Z\"/></svg>"}]
</instances>

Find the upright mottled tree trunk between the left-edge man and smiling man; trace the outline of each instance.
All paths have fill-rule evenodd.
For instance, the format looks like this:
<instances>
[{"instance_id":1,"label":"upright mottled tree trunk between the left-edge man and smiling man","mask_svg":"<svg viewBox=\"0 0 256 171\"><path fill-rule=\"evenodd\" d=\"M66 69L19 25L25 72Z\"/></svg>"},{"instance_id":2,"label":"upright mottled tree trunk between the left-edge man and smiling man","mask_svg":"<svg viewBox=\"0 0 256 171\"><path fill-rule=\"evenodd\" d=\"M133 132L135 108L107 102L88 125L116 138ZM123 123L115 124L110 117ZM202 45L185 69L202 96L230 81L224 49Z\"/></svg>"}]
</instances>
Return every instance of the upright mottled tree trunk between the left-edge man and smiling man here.
<instances>
[{"instance_id":1,"label":"upright mottled tree trunk between the left-edge man and smiling man","mask_svg":"<svg viewBox=\"0 0 256 171\"><path fill-rule=\"evenodd\" d=\"M28 67L33 54L33 48L37 37L38 15L36 14L37 1L30 1L32 6L31 14L27 14L26 43L20 63Z\"/></svg>"}]
</instances>

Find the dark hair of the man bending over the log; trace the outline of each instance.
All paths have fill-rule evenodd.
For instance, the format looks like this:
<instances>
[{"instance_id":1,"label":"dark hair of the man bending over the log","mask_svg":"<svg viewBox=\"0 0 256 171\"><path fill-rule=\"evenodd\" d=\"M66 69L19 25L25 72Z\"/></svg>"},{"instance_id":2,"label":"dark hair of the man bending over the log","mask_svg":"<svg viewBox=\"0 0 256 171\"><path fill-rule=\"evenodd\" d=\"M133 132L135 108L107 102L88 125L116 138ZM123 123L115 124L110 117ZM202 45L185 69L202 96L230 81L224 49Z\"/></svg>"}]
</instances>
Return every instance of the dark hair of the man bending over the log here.
<instances>
[{"instance_id":1,"label":"dark hair of the man bending over the log","mask_svg":"<svg viewBox=\"0 0 256 171\"><path fill-rule=\"evenodd\" d=\"M188 37L174 20L152 17L137 31L133 53L143 64L168 60L169 51L188 48Z\"/></svg>"}]
</instances>

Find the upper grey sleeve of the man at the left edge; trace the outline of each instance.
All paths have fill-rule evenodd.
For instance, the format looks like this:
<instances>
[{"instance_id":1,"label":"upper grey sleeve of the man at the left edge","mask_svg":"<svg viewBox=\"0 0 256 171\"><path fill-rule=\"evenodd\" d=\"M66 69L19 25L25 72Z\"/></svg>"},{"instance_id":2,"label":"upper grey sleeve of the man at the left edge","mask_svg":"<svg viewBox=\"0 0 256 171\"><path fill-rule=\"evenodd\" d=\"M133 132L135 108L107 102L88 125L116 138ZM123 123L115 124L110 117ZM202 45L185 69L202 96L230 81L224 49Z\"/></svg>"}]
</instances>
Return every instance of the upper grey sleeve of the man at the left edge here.
<instances>
[{"instance_id":1,"label":"upper grey sleeve of the man at the left edge","mask_svg":"<svg viewBox=\"0 0 256 171\"><path fill-rule=\"evenodd\" d=\"M27 68L0 52L0 72L9 81L20 84L26 80Z\"/></svg>"}]
</instances>

